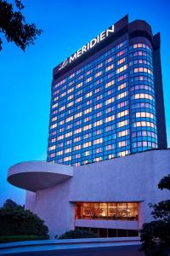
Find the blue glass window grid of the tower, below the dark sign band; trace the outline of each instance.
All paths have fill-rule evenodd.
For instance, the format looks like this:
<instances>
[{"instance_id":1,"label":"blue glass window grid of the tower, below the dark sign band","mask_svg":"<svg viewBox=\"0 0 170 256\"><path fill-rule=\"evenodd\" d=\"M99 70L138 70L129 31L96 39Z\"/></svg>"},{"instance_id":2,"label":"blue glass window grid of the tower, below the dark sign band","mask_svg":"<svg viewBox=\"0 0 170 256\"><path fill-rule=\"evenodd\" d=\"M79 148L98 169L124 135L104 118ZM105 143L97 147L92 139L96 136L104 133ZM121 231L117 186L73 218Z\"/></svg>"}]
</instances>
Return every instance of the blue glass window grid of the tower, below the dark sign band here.
<instances>
[{"instance_id":1,"label":"blue glass window grid of the tower, below the dark sign band","mask_svg":"<svg viewBox=\"0 0 170 256\"><path fill-rule=\"evenodd\" d=\"M116 44L54 81L48 161L81 166L157 148L150 44Z\"/></svg>"}]
</instances>

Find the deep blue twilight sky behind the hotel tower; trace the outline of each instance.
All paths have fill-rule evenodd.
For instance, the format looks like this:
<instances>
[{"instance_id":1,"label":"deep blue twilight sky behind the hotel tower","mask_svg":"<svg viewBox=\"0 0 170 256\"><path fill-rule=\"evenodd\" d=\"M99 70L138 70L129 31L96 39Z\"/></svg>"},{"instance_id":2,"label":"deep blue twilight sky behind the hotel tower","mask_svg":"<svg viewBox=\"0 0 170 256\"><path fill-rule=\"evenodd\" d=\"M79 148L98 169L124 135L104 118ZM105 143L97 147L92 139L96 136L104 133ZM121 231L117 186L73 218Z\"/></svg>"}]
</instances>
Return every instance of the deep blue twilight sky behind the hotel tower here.
<instances>
[{"instance_id":1,"label":"deep blue twilight sky behind the hotel tower","mask_svg":"<svg viewBox=\"0 0 170 256\"><path fill-rule=\"evenodd\" d=\"M6 182L8 167L46 160L53 68L107 27L129 15L161 32L161 65L170 146L169 0L23 0L28 22L43 29L26 53L3 43L0 52L0 205L7 198L24 204L25 192Z\"/></svg>"}]
</instances>

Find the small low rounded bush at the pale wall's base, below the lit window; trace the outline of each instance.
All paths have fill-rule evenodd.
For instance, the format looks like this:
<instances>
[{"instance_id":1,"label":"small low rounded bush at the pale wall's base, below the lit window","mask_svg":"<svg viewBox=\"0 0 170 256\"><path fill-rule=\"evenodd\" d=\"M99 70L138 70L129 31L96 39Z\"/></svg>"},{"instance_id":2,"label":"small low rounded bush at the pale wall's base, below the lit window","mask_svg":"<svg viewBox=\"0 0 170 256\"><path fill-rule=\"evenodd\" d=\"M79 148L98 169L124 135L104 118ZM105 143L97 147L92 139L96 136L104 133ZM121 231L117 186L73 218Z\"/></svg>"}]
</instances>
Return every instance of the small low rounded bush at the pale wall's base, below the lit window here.
<instances>
[{"instance_id":1,"label":"small low rounded bush at the pale wall's base, below the lit window","mask_svg":"<svg viewBox=\"0 0 170 256\"><path fill-rule=\"evenodd\" d=\"M95 234L86 230L70 230L65 232L58 239L77 239L77 238L99 238L98 234Z\"/></svg>"}]
</instances>

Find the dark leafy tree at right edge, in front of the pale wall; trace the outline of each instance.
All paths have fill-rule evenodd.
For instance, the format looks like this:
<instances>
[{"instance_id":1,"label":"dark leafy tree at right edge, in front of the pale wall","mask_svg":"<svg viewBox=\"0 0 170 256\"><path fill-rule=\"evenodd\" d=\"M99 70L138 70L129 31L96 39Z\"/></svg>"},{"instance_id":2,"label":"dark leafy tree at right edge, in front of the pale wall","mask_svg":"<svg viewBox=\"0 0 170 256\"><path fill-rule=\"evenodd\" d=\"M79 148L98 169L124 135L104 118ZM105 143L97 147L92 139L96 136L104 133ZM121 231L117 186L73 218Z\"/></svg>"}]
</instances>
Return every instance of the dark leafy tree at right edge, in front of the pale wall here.
<instances>
[{"instance_id":1,"label":"dark leafy tree at right edge, in front of the pale wall","mask_svg":"<svg viewBox=\"0 0 170 256\"><path fill-rule=\"evenodd\" d=\"M163 177L159 189L170 190L170 175ZM155 221L146 223L141 230L141 250L147 256L170 255L170 200L150 204Z\"/></svg>"}]
</instances>

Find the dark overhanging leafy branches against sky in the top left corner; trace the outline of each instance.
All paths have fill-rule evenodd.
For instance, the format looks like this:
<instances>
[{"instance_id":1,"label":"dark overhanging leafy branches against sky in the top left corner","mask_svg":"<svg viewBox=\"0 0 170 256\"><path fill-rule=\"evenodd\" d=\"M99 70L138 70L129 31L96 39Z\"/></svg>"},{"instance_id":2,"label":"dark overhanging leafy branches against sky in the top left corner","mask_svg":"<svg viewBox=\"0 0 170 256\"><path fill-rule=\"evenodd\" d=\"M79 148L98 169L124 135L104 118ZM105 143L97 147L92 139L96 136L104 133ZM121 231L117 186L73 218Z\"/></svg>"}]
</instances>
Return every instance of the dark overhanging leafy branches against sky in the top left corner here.
<instances>
[{"instance_id":1,"label":"dark overhanging leafy branches against sky in the top left corner","mask_svg":"<svg viewBox=\"0 0 170 256\"><path fill-rule=\"evenodd\" d=\"M15 0L15 9L13 3L7 0L0 0L0 32L5 35L8 42L14 42L20 49L24 50L30 44L34 44L37 36L42 32L37 29L34 23L26 23L26 18L21 10L24 5L20 0ZM0 50L2 50L2 38L0 38Z\"/></svg>"}]
</instances>

